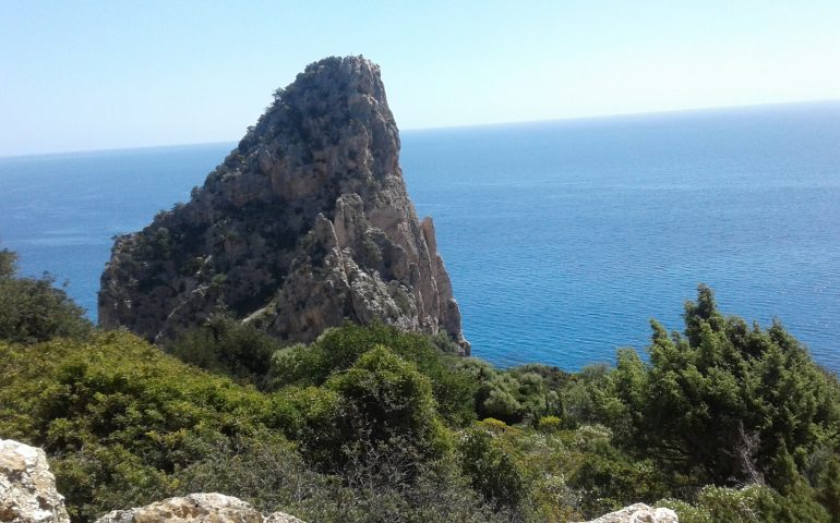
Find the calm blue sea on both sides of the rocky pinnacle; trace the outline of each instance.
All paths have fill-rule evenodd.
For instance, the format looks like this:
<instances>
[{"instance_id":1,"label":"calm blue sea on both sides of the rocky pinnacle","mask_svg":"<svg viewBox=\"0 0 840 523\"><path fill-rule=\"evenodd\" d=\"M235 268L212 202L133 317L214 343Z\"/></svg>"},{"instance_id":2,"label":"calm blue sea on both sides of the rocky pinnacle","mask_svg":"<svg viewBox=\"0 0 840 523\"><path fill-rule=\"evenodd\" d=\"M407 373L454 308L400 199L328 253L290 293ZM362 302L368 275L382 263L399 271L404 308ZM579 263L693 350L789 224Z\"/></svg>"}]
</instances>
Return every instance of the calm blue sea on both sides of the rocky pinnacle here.
<instances>
[{"instance_id":1,"label":"calm blue sea on both sides of the rocky pinnacle","mask_svg":"<svg viewBox=\"0 0 840 523\"><path fill-rule=\"evenodd\" d=\"M699 282L840 370L840 101L401 133L473 355L577 370L682 329ZM0 246L96 316L111 238L233 144L0 158Z\"/></svg>"}]
</instances>

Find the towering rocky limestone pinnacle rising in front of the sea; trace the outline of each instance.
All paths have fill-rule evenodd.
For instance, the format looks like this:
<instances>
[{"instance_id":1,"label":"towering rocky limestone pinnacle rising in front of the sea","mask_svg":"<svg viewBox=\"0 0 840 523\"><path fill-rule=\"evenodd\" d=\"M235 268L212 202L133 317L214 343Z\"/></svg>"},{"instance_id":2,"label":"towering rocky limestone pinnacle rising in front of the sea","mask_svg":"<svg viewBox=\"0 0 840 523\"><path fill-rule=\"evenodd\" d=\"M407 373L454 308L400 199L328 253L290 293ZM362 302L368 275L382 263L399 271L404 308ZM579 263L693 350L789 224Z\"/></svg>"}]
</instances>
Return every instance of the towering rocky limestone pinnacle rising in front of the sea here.
<instances>
[{"instance_id":1,"label":"towering rocky limestone pinnacle rising in front of the sea","mask_svg":"<svg viewBox=\"0 0 840 523\"><path fill-rule=\"evenodd\" d=\"M311 341L344 318L446 332L460 313L399 168L380 69L313 63L249 127L192 199L119 236L99 323L164 341L226 309Z\"/></svg>"}]
</instances>

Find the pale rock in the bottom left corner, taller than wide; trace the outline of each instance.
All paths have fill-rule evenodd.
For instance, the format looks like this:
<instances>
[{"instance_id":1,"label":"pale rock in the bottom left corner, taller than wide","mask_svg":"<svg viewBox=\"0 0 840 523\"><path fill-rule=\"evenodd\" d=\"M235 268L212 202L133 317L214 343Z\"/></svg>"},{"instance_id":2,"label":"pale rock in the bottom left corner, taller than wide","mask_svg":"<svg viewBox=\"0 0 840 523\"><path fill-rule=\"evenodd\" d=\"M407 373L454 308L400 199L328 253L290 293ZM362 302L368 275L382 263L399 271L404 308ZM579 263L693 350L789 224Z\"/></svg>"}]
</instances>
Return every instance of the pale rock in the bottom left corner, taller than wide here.
<instances>
[{"instance_id":1,"label":"pale rock in the bottom left corner, taller than wide","mask_svg":"<svg viewBox=\"0 0 840 523\"><path fill-rule=\"evenodd\" d=\"M0 522L70 523L41 449L0 439Z\"/></svg>"}]
</instances>

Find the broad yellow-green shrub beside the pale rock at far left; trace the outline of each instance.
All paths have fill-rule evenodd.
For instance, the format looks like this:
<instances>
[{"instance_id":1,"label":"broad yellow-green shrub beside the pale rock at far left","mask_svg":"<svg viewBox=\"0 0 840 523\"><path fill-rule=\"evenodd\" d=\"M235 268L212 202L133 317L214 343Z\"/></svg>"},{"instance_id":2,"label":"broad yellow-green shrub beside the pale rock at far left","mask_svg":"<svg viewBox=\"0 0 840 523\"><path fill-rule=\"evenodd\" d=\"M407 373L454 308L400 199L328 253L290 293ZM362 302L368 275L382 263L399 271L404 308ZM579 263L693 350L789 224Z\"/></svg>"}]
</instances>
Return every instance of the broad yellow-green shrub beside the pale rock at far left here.
<instances>
[{"instance_id":1,"label":"broad yellow-green shrub beside the pale rock at far left","mask_svg":"<svg viewBox=\"0 0 840 523\"><path fill-rule=\"evenodd\" d=\"M275 405L125 332L0 343L0 436L50 454L74 521L173 495L227 438L279 437Z\"/></svg>"}]
</instances>

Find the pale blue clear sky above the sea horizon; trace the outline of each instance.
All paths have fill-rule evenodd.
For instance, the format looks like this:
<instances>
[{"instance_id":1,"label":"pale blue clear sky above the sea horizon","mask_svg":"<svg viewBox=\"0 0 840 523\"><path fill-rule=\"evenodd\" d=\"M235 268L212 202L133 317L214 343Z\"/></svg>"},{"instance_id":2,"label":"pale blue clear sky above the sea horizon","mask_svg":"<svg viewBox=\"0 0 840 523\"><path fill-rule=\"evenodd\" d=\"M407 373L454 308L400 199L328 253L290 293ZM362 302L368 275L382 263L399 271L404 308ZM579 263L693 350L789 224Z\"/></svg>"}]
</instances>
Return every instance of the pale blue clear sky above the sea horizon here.
<instances>
[{"instance_id":1,"label":"pale blue clear sky above the sea horizon","mask_svg":"<svg viewBox=\"0 0 840 523\"><path fill-rule=\"evenodd\" d=\"M840 1L17 1L0 156L237 141L308 63L400 129L840 98Z\"/></svg>"}]
</instances>

